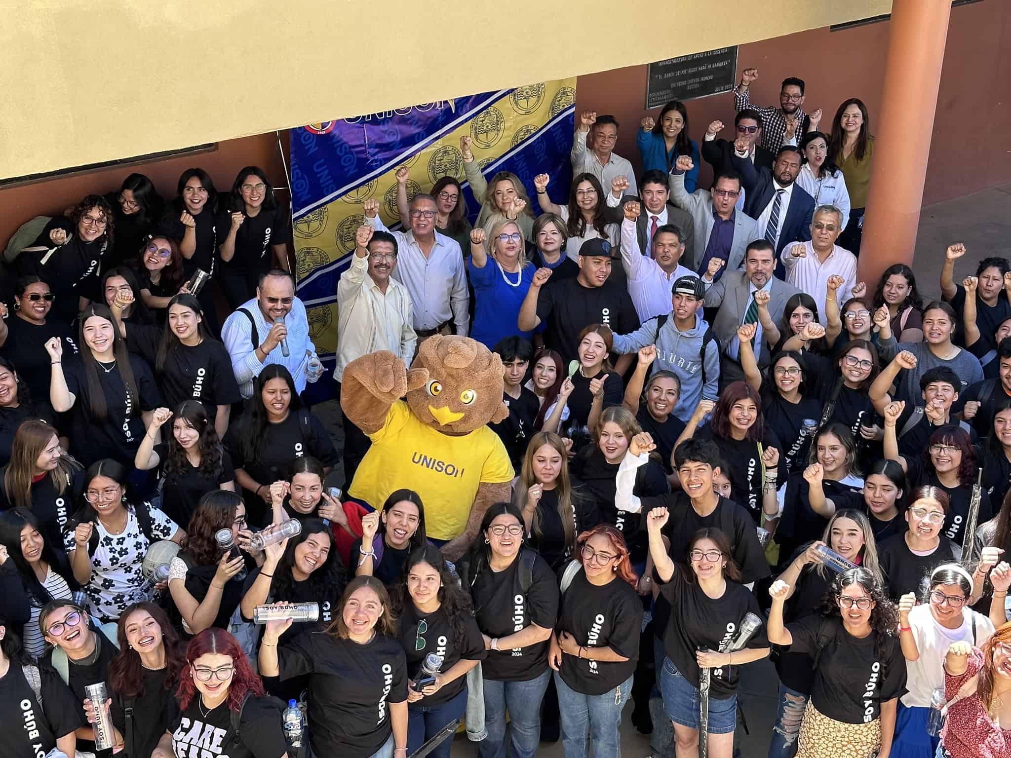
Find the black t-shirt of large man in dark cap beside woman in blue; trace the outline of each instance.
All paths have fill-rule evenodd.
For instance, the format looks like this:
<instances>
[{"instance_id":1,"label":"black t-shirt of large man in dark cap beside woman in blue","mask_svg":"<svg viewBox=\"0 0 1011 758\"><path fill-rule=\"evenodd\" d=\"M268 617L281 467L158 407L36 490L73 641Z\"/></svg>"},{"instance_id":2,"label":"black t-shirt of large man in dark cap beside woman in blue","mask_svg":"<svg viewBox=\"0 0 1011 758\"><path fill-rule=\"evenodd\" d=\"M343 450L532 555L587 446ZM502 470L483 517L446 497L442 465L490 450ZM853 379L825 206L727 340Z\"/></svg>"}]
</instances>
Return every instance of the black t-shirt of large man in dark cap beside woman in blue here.
<instances>
[{"instance_id":1,"label":"black t-shirt of large man in dark cap beside woman in blue","mask_svg":"<svg viewBox=\"0 0 1011 758\"><path fill-rule=\"evenodd\" d=\"M576 338L583 326L603 323L616 335L639 328L628 290L610 281L602 287L584 287L575 278L549 282L538 295L537 316L548 324L545 345L558 351L566 364L579 357Z\"/></svg>"}]
</instances>

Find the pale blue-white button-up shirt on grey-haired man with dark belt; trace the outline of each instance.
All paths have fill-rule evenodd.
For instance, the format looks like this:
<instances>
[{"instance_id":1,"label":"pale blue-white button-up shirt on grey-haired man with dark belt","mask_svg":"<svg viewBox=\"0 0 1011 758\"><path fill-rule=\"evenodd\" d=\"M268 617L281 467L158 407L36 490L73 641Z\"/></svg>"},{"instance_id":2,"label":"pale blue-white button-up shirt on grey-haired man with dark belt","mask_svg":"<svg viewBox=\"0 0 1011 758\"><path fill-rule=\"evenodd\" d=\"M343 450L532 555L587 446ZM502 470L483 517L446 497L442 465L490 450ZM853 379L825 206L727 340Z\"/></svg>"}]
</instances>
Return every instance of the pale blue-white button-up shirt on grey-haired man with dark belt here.
<instances>
[{"instance_id":1,"label":"pale blue-white button-up shirt on grey-haired man with dark belt","mask_svg":"<svg viewBox=\"0 0 1011 758\"><path fill-rule=\"evenodd\" d=\"M426 257L410 231L388 229L378 215L366 216L365 223L396 238L396 268L392 276L410 295L415 331L431 331L452 319L456 334L466 337L470 326L467 312L470 296L460 244L436 231L432 252Z\"/></svg>"}]
</instances>

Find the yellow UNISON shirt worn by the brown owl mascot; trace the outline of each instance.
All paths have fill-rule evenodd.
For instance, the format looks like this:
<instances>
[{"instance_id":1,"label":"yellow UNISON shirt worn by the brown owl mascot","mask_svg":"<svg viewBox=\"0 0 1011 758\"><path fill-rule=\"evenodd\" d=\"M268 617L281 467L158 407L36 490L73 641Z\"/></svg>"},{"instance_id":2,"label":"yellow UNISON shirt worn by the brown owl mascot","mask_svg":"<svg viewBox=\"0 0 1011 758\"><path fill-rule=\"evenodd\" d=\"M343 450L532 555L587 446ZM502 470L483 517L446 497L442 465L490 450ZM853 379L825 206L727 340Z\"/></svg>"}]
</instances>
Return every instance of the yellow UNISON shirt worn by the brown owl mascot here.
<instances>
[{"instance_id":1,"label":"yellow UNISON shirt worn by the brown owl mascot","mask_svg":"<svg viewBox=\"0 0 1011 758\"><path fill-rule=\"evenodd\" d=\"M382 507L390 492L416 490L425 504L425 530L436 540L459 537L481 482L513 479L513 464L498 436L481 427L463 437L443 435L423 423L403 400L369 435L372 447L355 472L350 494Z\"/></svg>"}]
</instances>

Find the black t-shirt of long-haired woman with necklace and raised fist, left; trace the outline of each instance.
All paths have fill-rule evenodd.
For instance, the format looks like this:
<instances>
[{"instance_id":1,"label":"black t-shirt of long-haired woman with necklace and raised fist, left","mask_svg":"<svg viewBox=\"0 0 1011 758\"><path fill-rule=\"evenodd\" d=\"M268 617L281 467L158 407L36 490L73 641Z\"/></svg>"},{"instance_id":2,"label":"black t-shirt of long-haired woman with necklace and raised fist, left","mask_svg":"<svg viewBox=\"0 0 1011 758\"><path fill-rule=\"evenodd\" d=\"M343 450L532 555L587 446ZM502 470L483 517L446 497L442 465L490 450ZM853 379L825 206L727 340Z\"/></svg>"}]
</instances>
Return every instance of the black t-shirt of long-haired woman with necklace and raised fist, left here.
<instances>
[{"instance_id":1,"label":"black t-shirt of long-haired woman with necklace and raised fist, left","mask_svg":"<svg viewBox=\"0 0 1011 758\"><path fill-rule=\"evenodd\" d=\"M108 372L106 369L109 367L101 363L95 367L99 386L105 395L105 418L97 419L91 415L90 390L84 366L79 360L64 363L67 389L77 398L71 416L71 453L85 466L102 458L112 458L127 469L133 468L133 456L146 433L141 413L159 407L161 395L148 364L132 354L129 364L140 395L139 403L127 395L118 363Z\"/></svg>"}]
</instances>

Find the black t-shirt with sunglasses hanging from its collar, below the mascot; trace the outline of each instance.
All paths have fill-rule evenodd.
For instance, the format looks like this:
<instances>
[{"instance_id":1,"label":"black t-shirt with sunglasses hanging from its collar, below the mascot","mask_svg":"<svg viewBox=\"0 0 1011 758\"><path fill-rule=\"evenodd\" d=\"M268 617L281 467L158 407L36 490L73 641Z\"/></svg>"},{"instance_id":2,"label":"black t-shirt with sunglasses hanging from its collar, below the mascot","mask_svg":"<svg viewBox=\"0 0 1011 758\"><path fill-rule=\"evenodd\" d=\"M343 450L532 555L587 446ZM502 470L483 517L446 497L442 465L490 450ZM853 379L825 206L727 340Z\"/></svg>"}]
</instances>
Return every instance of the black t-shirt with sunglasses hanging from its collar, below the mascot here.
<instances>
[{"instance_id":1,"label":"black t-shirt with sunglasses hanging from its collar, below the mascot","mask_svg":"<svg viewBox=\"0 0 1011 758\"><path fill-rule=\"evenodd\" d=\"M424 622L425 632L420 627ZM443 658L440 671L449 671L460 660L480 661L484 659L484 638L477 622L470 613L463 619L464 634L461 639L453 633L446 609L440 607L431 613L423 613L409 599L397 619L397 636L407 657L407 676L417 681L421 675L422 663L429 653L437 653ZM421 649L419 650L419 646ZM434 695L418 700L419 707L443 705L456 697L467 686L467 677L458 676L444 685Z\"/></svg>"}]
</instances>

